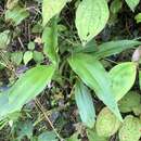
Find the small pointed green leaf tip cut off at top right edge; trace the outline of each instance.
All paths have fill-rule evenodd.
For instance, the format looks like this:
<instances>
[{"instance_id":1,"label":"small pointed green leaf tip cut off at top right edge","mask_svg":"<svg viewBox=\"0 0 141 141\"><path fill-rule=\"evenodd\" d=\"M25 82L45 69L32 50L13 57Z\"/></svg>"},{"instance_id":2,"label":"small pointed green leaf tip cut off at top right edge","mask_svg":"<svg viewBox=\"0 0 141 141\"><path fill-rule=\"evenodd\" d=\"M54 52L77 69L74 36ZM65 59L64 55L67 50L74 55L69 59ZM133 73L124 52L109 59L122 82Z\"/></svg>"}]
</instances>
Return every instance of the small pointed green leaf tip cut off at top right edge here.
<instances>
[{"instance_id":1,"label":"small pointed green leaf tip cut off at top right edge","mask_svg":"<svg viewBox=\"0 0 141 141\"><path fill-rule=\"evenodd\" d=\"M128 7L134 12L136 7L139 4L140 0L125 0Z\"/></svg>"}]
</instances>

